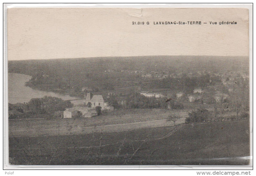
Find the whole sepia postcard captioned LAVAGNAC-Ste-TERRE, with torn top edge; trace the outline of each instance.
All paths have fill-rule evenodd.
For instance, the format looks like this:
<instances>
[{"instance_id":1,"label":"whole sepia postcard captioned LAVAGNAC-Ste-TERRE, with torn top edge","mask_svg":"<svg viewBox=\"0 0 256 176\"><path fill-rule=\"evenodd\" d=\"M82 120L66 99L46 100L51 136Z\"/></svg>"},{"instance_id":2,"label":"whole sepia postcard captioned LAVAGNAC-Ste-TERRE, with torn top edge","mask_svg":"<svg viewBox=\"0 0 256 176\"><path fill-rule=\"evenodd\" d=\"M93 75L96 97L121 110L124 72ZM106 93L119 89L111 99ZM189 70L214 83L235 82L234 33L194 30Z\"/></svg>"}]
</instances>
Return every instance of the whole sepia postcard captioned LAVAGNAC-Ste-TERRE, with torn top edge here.
<instances>
[{"instance_id":1,"label":"whole sepia postcard captioned LAVAGNAC-Ste-TERRE, with torn top edge","mask_svg":"<svg viewBox=\"0 0 256 176\"><path fill-rule=\"evenodd\" d=\"M252 165L247 8L6 11L9 167Z\"/></svg>"}]
</instances>

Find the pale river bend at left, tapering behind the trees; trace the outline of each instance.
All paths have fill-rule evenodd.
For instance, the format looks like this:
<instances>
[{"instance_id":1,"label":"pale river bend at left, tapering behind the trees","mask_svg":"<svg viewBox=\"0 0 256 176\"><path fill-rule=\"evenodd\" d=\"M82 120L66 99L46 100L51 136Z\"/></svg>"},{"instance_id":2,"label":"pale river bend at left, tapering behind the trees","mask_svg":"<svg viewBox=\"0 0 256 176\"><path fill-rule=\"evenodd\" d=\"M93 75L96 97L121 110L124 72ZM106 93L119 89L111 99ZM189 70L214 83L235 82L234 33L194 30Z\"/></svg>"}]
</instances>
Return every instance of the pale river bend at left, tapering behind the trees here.
<instances>
[{"instance_id":1,"label":"pale river bend at left, tapering behind the trees","mask_svg":"<svg viewBox=\"0 0 256 176\"><path fill-rule=\"evenodd\" d=\"M44 96L58 97L63 100L74 100L76 97L68 95L61 95L54 92L45 92L34 90L25 86L25 83L31 79L29 75L23 75L18 73L8 73L8 102L24 103L29 102L31 98L42 98Z\"/></svg>"}]
</instances>

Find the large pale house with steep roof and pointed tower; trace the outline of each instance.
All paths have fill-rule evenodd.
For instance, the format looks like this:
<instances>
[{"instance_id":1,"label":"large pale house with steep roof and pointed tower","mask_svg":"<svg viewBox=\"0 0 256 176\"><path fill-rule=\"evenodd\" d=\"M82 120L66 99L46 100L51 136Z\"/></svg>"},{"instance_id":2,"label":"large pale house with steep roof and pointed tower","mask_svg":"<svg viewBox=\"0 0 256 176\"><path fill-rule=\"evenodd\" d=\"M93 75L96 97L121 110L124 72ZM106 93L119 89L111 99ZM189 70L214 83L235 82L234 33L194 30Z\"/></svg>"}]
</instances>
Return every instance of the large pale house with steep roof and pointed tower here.
<instances>
[{"instance_id":1,"label":"large pale house with steep roof and pointed tower","mask_svg":"<svg viewBox=\"0 0 256 176\"><path fill-rule=\"evenodd\" d=\"M112 110L113 107L110 107L108 102L104 102L102 95L92 95L90 92L86 94L85 105L91 103L91 107L95 108L100 106L102 110Z\"/></svg>"}]
</instances>

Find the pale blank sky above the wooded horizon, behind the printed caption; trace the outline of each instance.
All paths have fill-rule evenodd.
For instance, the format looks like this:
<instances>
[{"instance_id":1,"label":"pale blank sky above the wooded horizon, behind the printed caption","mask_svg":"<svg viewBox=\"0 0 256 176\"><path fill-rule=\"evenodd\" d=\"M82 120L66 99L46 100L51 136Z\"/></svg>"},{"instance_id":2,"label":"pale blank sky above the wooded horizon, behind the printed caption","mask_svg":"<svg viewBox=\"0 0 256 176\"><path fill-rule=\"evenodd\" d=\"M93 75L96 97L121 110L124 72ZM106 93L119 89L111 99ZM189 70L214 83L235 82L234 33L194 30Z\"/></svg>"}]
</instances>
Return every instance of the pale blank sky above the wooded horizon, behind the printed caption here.
<instances>
[{"instance_id":1,"label":"pale blank sky above the wooded horizon, behind the printed caption","mask_svg":"<svg viewBox=\"0 0 256 176\"><path fill-rule=\"evenodd\" d=\"M154 25L159 21L207 24ZM222 21L237 24L219 25ZM7 31L8 60L249 55L245 8L10 8Z\"/></svg>"}]
</instances>

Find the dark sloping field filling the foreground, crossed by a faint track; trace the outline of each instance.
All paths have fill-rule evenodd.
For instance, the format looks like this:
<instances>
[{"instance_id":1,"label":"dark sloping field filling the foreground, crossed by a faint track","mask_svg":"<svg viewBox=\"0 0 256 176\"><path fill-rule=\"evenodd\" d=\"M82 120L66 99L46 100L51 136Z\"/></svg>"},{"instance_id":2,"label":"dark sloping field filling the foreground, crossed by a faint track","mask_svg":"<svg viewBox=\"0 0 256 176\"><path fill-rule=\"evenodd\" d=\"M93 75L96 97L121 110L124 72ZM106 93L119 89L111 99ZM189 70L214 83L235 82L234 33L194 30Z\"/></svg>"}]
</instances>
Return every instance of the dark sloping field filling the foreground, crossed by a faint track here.
<instances>
[{"instance_id":1,"label":"dark sloping field filling the foreground, crossed by a faint track","mask_svg":"<svg viewBox=\"0 0 256 176\"><path fill-rule=\"evenodd\" d=\"M249 121L113 133L9 137L9 162L22 165L249 164Z\"/></svg>"}]
</instances>

